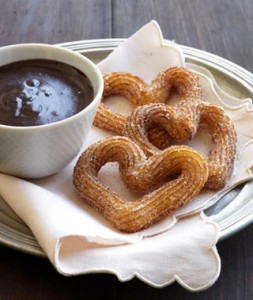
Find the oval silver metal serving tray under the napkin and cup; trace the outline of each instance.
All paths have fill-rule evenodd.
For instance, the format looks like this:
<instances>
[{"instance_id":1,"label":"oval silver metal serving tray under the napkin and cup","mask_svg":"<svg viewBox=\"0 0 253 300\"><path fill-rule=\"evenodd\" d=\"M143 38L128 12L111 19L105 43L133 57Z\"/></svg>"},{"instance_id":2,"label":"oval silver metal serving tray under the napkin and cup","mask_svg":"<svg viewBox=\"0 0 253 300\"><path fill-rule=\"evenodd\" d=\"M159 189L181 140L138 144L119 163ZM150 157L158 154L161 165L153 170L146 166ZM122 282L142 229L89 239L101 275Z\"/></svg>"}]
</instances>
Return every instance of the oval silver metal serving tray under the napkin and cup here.
<instances>
[{"instance_id":1,"label":"oval silver metal serving tray under the napkin and cup","mask_svg":"<svg viewBox=\"0 0 253 300\"><path fill-rule=\"evenodd\" d=\"M110 54L123 39L85 40L58 44L77 51L98 63ZM238 98L253 98L253 74L244 68L211 53L182 46L187 63L209 69L219 85ZM252 189L251 189L252 185ZM253 182L242 184L205 213L220 226L220 240L243 229L253 221ZM0 242L20 251L45 256L31 230L0 197Z\"/></svg>"}]
</instances>

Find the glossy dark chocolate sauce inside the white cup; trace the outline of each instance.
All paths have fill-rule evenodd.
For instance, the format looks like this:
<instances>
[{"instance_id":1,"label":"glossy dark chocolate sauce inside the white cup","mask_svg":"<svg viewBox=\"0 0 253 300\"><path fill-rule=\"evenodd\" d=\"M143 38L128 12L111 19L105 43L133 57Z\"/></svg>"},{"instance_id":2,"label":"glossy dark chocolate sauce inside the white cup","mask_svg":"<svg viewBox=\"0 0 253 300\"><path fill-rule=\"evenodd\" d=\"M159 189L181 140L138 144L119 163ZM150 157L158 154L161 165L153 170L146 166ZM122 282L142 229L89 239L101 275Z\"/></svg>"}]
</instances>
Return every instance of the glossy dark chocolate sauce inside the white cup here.
<instances>
[{"instance_id":1,"label":"glossy dark chocolate sauce inside the white cup","mask_svg":"<svg viewBox=\"0 0 253 300\"><path fill-rule=\"evenodd\" d=\"M0 67L0 124L34 126L75 115L93 99L85 74L45 59Z\"/></svg>"}]
</instances>

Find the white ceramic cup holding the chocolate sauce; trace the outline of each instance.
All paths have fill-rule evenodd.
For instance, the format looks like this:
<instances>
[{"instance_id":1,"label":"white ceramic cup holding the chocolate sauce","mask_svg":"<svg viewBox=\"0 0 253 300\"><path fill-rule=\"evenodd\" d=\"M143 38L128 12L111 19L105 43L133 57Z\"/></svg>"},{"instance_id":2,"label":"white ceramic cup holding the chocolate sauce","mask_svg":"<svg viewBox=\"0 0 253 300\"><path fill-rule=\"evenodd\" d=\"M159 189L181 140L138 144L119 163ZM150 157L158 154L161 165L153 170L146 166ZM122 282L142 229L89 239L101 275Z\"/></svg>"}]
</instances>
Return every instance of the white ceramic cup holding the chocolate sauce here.
<instances>
[{"instance_id":1,"label":"white ceramic cup holding the chocolate sauce","mask_svg":"<svg viewBox=\"0 0 253 300\"><path fill-rule=\"evenodd\" d=\"M18 44L0 48L0 66L29 59L49 59L73 66L86 74L94 89L91 103L64 120L28 127L0 124L0 172L41 178L57 173L80 152L102 97L103 77L92 61L57 46Z\"/></svg>"}]
</instances>

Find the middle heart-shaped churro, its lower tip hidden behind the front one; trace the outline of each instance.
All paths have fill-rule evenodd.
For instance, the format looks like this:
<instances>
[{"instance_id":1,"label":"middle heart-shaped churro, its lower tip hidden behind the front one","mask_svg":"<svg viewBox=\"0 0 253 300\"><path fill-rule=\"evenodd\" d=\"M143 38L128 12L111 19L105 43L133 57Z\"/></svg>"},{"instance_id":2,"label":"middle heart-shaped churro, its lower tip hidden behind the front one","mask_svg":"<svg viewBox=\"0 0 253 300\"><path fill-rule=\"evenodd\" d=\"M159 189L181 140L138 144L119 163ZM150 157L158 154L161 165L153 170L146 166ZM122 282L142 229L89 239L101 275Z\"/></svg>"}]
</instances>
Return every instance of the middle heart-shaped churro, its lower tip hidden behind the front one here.
<instances>
[{"instance_id":1,"label":"middle heart-shaped churro, its lower tip hidden behind the front one","mask_svg":"<svg viewBox=\"0 0 253 300\"><path fill-rule=\"evenodd\" d=\"M211 134L207 162L209 178L206 187L220 189L225 186L236 154L236 131L224 110L213 104L188 99L175 108L166 104L149 104L137 107L127 118L124 135L137 143L151 156L159 151L149 138L155 125L162 127L162 140L182 143L190 140L199 127Z\"/></svg>"}]
</instances>

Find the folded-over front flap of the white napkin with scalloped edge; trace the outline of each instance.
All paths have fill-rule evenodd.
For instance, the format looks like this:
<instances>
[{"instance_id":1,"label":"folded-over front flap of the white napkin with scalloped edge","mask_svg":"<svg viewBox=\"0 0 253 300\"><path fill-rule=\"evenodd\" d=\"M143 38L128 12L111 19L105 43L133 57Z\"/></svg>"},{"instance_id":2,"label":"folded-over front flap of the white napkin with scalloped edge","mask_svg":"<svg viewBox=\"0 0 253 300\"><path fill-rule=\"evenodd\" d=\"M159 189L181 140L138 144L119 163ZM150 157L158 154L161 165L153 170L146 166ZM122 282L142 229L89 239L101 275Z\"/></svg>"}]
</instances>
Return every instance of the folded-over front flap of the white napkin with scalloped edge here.
<instances>
[{"instance_id":1,"label":"folded-over front flap of the white napkin with scalloped edge","mask_svg":"<svg viewBox=\"0 0 253 300\"><path fill-rule=\"evenodd\" d=\"M198 213L135 244L101 247L79 236L60 239L55 264L64 275L112 273L122 282L137 277L162 288L176 281L190 291L200 291L219 277L221 263L215 246L218 238L218 226Z\"/></svg>"}]
</instances>

